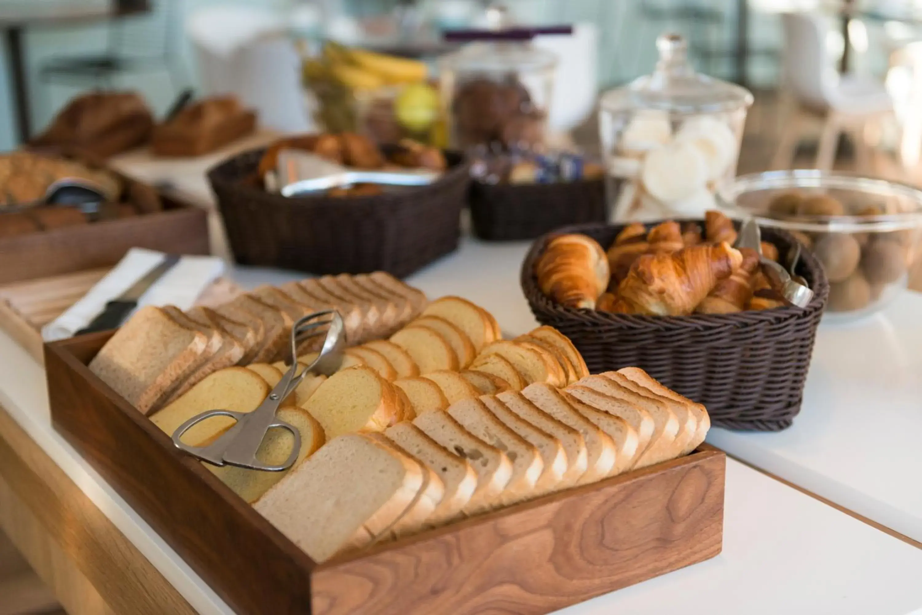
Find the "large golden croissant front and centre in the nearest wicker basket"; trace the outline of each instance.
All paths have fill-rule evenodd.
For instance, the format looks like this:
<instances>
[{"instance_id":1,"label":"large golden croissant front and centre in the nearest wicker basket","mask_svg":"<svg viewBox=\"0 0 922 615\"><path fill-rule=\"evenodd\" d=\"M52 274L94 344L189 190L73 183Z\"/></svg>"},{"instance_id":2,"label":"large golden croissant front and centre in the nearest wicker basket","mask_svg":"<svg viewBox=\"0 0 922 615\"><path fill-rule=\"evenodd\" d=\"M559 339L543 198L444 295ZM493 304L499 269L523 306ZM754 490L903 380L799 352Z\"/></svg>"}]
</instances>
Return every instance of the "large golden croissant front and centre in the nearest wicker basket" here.
<instances>
[{"instance_id":1,"label":"large golden croissant front and centre in the nearest wicker basket","mask_svg":"<svg viewBox=\"0 0 922 615\"><path fill-rule=\"evenodd\" d=\"M673 254L644 254L621 280L611 312L690 314L742 259L727 242L693 245Z\"/></svg>"}]
</instances>

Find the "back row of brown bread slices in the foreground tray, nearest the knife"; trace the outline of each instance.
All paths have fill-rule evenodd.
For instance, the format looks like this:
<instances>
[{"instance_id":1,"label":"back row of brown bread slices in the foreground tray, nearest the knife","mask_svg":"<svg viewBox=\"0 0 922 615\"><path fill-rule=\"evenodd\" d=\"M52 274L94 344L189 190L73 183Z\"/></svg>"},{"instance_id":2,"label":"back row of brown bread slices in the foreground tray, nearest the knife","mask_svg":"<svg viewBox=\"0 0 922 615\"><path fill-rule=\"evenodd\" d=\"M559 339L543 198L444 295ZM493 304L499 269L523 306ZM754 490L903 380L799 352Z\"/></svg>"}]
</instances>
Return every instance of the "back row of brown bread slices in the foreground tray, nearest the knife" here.
<instances>
[{"instance_id":1,"label":"back row of brown bread slices in the foreground tray, nearest the knife","mask_svg":"<svg viewBox=\"0 0 922 615\"><path fill-rule=\"evenodd\" d=\"M420 290L376 272L304 279L278 288L262 286L214 309L195 307L183 313L173 306L144 307L100 349L89 368L149 414L221 369L290 361L291 325L309 313L337 310L349 343L360 344L393 335L419 316L427 303ZM319 337L306 340L301 351L317 348L320 341ZM381 349L372 351L377 354L358 351L344 365L373 362ZM401 367L409 370L408 364ZM271 380L271 370L256 369Z\"/></svg>"}]
</instances>

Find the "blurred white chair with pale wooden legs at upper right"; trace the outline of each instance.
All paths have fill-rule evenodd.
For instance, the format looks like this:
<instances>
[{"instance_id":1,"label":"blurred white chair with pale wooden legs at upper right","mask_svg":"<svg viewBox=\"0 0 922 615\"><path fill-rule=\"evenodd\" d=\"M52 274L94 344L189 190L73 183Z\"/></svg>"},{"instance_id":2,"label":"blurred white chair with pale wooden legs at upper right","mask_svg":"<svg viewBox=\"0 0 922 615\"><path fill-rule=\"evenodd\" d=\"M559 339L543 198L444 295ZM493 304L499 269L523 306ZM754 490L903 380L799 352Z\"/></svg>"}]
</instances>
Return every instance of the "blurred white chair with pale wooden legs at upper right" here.
<instances>
[{"instance_id":1,"label":"blurred white chair with pale wooden legs at upper right","mask_svg":"<svg viewBox=\"0 0 922 615\"><path fill-rule=\"evenodd\" d=\"M829 29L814 12L785 13L781 94L793 113L784 127L772 167L791 167L808 116L824 122L816 152L816 168L830 170L835 161L839 136L847 132L855 142L857 166L870 166L866 128L893 112L893 103L881 81L872 77L840 75L826 48Z\"/></svg>"}]
</instances>

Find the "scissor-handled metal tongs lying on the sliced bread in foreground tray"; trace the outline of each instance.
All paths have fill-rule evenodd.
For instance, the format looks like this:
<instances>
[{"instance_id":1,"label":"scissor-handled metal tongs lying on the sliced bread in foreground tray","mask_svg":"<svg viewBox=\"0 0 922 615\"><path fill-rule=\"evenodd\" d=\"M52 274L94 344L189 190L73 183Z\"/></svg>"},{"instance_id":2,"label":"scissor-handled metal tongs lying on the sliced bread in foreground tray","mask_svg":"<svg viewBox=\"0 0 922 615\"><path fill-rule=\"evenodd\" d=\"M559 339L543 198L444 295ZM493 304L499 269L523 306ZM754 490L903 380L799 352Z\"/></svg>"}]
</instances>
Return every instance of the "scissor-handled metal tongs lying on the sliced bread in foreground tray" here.
<instances>
[{"instance_id":1,"label":"scissor-handled metal tongs lying on the sliced bread in foreground tray","mask_svg":"<svg viewBox=\"0 0 922 615\"><path fill-rule=\"evenodd\" d=\"M328 326L326 326L328 325ZM323 330L322 327L326 326ZM346 345L343 320L333 310L304 316L291 327L291 367L278 381L266 400L252 412L231 410L207 410L186 420L176 432L172 441L176 448L214 466L237 466L266 472L281 472L294 465L301 450L301 433L290 423L276 418L276 411L282 402L294 392L308 373L332 375L342 362L342 350ZM324 346L313 362L298 374L297 349L299 342L308 337L325 335ZM297 374L297 375L296 375ZM230 417L237 422L224 432L214 443L207 446L193 446L182 441L183 434L203 420L214 417ZM294 446L285 463L269 466L256 458L256 452L270 429L284 429L294 436Z\"/></svg>"}]
</instances>

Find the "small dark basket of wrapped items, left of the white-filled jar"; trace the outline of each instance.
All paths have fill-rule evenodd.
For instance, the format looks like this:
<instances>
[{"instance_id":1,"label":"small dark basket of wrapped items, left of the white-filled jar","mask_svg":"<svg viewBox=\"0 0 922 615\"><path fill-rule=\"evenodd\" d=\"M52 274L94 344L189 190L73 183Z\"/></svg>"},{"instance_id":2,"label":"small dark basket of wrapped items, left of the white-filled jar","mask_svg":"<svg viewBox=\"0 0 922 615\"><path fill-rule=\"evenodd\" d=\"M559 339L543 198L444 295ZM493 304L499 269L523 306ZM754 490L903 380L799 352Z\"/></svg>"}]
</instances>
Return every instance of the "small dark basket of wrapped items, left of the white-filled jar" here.
<instances>
[{"instance_id":1,"label":"small dark basket of wrapped items, left of the white-filled jar","mask_svg":"<svg viewBox=\"0 0 922 615\"><path fill-rule=\"evenodd\" d=\"M603 180L561 183L473 182L468 195L471 225L480 239L535 239L569 224L605 222Z\"/></svg>"}]
</instances>

